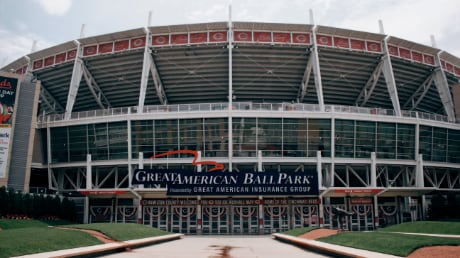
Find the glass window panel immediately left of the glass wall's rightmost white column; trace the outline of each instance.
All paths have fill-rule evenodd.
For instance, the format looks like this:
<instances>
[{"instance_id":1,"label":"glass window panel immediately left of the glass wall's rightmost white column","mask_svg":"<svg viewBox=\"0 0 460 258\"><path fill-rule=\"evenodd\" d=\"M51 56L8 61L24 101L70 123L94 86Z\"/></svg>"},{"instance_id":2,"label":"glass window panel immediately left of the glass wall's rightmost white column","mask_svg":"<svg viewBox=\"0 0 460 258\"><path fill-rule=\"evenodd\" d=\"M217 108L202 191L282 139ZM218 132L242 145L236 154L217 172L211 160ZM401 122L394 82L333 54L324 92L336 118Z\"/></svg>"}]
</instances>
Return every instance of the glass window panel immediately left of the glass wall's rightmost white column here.
<instances>
[{"instance_id":1,"label":"glass window panel immediately left of the glass wall's rightmost white column","mask_svg":"<svg viewBox=\"0 0 460 258\"><path fill-rule=\"evenodd\" d=\"M415 126L398 124L397 159L415 159Z\"/></svg>"}]
</instances>

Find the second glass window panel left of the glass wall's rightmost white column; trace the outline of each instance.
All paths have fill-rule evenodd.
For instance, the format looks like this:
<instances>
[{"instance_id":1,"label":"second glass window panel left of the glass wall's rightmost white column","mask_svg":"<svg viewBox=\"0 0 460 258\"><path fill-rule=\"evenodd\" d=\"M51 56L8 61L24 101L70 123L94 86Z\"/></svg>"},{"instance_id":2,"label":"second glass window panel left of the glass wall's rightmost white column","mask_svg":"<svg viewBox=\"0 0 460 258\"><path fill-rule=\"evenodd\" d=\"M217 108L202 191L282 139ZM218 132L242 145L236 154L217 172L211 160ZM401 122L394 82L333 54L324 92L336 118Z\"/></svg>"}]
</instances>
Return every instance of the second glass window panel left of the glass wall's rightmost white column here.
<instances>
[{"instance_id":1,"label":"second glass window panel left of the glass wall's rightmost white column","mask_svg":"<svg viewBox=\"0 0 460 258\"><path fill-rule=\"evenodd\" d=\"M394 159L396 157L396 124L377 124L377 158Z\"/></svg>"}]
</instances>

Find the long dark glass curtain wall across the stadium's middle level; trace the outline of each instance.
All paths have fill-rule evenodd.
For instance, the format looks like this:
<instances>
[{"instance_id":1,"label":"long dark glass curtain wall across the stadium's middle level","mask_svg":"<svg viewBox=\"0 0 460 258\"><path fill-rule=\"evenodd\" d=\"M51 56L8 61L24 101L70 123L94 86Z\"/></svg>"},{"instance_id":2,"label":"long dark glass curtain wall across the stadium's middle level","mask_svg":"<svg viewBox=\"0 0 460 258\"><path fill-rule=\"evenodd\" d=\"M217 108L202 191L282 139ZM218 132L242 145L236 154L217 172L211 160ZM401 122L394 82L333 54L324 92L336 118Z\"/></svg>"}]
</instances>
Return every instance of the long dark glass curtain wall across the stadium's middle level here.
<instances>
[{"instance_id":1,"label":"long dark glass curtain wall across the stadium's middle level","mask_svg":"<svg viewBox=\"0 0 460 258\"><path fill-rule=\"evenodd\" d=\"M128 158L128 123L99 123L50 128L51 162ZM331 155L331 120L295 118L233 118L235 157L255 157L261 150L271 157ZM415 159L415 125L335 120L335 156ZM131 152L137 159L172 150L199 150L203 157L228 156L228 119L196 118L131 121ZM423 159L460 162L460 131L420 126ZM177 155L175 157L178 157ZM172 158L172 157L171 157Z\"/></svg>"}]
</instances>

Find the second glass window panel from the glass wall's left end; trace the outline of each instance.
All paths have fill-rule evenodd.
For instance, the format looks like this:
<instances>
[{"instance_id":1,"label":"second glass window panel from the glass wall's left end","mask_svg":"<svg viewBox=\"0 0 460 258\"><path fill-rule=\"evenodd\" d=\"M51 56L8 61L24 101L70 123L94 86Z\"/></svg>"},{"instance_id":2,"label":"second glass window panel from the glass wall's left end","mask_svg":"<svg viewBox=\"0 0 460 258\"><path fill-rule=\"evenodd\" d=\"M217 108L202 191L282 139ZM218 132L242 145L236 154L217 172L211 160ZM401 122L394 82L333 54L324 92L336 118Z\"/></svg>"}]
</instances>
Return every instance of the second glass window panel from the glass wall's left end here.
<instances>
[{"instance_id":1,"label":"second glass window panel from the glass wall's left end","mask_svg":"<svg viewBox=\"0 0 460 258\"><path fill-rule=\"evenodd\" d=\"M87 151L86 125L69 127L70 161L85 161Z\"/></svg>"}]
</instances>

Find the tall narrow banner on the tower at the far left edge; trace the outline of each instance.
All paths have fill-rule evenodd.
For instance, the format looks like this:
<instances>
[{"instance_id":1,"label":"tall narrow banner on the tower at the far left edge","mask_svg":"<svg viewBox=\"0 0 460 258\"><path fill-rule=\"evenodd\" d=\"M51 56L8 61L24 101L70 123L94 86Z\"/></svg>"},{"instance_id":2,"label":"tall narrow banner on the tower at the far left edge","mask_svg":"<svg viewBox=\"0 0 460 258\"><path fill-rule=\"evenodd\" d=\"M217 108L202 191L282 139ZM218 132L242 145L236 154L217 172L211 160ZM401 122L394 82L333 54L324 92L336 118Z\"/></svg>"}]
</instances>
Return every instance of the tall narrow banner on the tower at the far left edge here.
<instances>
[{"instance_id":1,"label":"tall narrow banner on the tower at the far left edge","mask_svg":"<svg viewBox=\"0 0 460 258\"><path fill-rule=\"evenodd\" d=\"M18 79L0 76L0 178L6 177Z\"/></svg>"}]
</instances>

